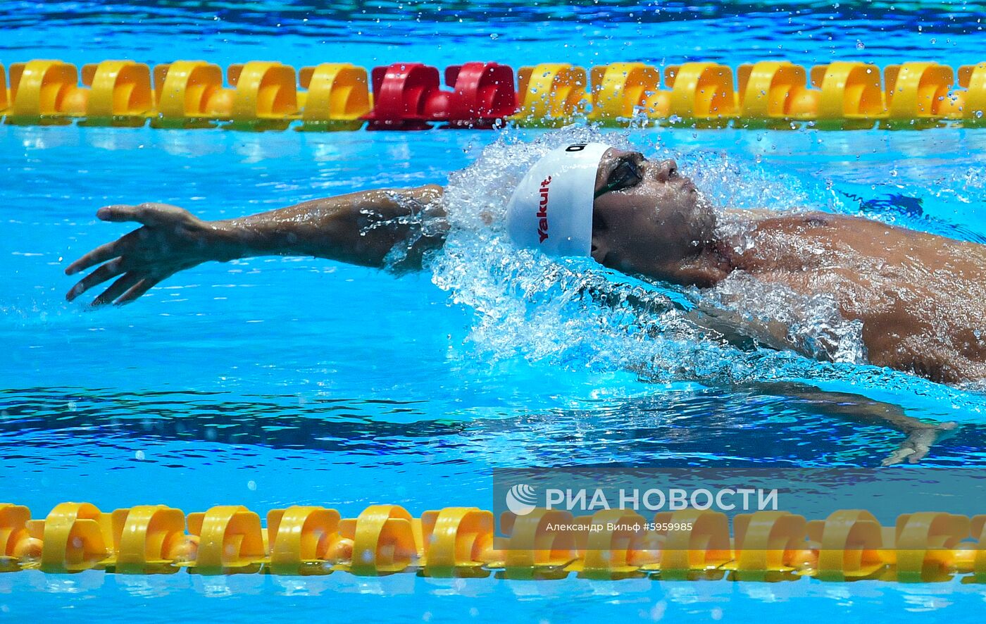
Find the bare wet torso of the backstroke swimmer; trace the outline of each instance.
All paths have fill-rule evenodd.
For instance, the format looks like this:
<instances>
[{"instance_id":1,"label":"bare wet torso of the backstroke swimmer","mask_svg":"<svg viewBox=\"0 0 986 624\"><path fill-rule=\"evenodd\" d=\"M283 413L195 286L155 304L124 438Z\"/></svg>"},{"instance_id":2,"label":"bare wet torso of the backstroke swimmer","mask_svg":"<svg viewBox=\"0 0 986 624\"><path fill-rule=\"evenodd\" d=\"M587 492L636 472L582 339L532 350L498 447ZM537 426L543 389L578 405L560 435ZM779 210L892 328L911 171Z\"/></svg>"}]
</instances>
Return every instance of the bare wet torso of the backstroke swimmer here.
<instances>
[{"instance_id":1,"label":"bare wet torso of the backstroke swimmer","mask_svg":"<svg viewBox=\"0 0 986 624\"><path fill-rule=\"evenodd\" d=\"M733 265L863 321L870 361L935 381L986 379L986 246L823 213L758 219Z\"/></svg>"}]
</instances>

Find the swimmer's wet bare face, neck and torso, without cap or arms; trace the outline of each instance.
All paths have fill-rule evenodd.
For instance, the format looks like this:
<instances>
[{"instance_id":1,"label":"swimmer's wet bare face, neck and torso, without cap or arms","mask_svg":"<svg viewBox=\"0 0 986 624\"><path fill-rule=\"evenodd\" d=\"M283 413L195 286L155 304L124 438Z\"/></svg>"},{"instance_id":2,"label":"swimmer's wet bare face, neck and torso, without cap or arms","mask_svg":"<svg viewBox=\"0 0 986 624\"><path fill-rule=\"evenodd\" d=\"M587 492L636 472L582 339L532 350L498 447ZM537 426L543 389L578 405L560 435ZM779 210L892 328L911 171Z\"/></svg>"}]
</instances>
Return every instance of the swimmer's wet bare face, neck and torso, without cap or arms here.
<instances>
[{"instance_id":1,"label":"swimmer's wet bare face, neck and torso, without cap or arms","mask_svg":"<svg viewBox=\"0 0 986 624\"><path fill-rule=\"evenodd\" d=\"M731 232L673 161L610 150L597 188L621 159L639 181L595 204L593 257L678 284L714 286L734 271L807 296L832 296L863 322L870 361L933 381L986 379L986 246L827 213L731 211Z\"/></svg>"}]
</instances>

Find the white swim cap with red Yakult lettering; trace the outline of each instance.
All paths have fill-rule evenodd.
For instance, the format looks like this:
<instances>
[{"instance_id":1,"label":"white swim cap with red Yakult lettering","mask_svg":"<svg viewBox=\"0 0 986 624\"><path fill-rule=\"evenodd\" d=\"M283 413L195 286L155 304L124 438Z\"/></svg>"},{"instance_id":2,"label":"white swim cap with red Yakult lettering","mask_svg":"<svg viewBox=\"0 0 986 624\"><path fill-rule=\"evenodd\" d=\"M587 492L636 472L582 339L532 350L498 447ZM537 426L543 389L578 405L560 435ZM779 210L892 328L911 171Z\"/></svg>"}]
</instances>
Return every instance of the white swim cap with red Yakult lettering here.
<instances>
[{"instance_id":1,"label":"white swim cap with red Yakult lettering","mask_svg":"<svg viewBox=\"0 0 986 624\"><path fill-rule=\"evenodd\" d=\"M507 204L507 232L522 247L551 256L592 255L599 160L609 146L575 143L534 163Z\"/></svg>"}]
</instances>

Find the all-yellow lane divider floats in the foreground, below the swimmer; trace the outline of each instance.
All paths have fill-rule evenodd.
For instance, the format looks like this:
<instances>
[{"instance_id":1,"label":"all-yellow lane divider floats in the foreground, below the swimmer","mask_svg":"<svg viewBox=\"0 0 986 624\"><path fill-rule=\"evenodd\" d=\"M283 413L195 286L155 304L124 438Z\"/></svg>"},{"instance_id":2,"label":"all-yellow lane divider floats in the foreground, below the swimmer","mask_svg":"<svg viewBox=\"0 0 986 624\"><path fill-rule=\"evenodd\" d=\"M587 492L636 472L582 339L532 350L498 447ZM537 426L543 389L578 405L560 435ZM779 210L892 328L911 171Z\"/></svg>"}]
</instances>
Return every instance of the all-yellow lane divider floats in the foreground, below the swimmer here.
<instances>
[{"instance_id":1,"label":"all-yellow lane divider floats in the foreground, below the swimmer","mask_svg":"<svg viewBox=\"0 0 986 624\"><path fill-rule=\"evenodd\" d=\"M986 516L905 514L882 526L869 512L825 520L787 512L606 510L593 516L535 509L505 513L450 507L411 516L374 505L357 518L332 509L272 510L266 526L243 506L185 516L163 505L101 512L61 503L43 520L0 504L0 572L105 570L118 574L268 573L586 579L822 581L879 579L986 583Z\"/></svg>"}]
</instances>

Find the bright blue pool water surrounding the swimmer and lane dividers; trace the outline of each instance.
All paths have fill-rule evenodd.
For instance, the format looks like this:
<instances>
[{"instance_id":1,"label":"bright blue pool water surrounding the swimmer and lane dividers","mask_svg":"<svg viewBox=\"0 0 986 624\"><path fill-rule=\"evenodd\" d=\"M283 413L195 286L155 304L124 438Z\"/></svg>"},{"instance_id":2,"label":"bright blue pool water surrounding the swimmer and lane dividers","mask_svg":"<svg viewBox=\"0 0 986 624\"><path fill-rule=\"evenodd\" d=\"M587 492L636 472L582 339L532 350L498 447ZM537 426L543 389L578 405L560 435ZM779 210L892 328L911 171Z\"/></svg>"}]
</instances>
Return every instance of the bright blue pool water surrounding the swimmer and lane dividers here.
<instances>
[{"instance_id":1,"label":"bright blue pool water surrounding the swimmer and lane dividers","mask_svg":"<svg viewBox=\"0 0 986 624\"><path fill-rule=\"evenodd\" d=\"M468 3L441 11L383 3L366 13L355 3L332 6L6 3L0 62L193 56L369 67L479 58L520 66L535 45L545 60L583 65L984 60L976 3L708 3L693 7L699 20L686 20L692 9L676 3L658 14L600 3L574 15L556 3L492 3L488 14ZM607 11L618 19L600 19ZM539 320L552 331L538 332L528 316L497 315L519 297L502 283L484 286L495 250L471 249L467 233L420 274L254 258L179 274L126 308L93 312L63 300L73 283L62 274L67 262L127 230L98 222L102 205L155 200L204 218L239 216L364 188L446 183L450 171L477 158L499 162L514 142L543 135L0 126L0 500L35 515L68 500L104 511L318 504L343 516L387 502L420 514L490 508L497 466L877 466L902 439L824 402L762 389L779 380L958 422L922 463L986 465L981 387L663 336L642 341L625 328L648 319L571 302L544 303ZM863 212L986 242L986 131L648 129L610 138L675 156L722 205ZM451 182L482 183L468 171ZM793 609L926 621L969 619L984 599L986 589L958 583L0 575L0 613L17 621L251 621L287 609L324 616L340 605L341 619L493 621L504 619L506 602L518 621L739 621Z\"/></svg>"}]
</instances>

